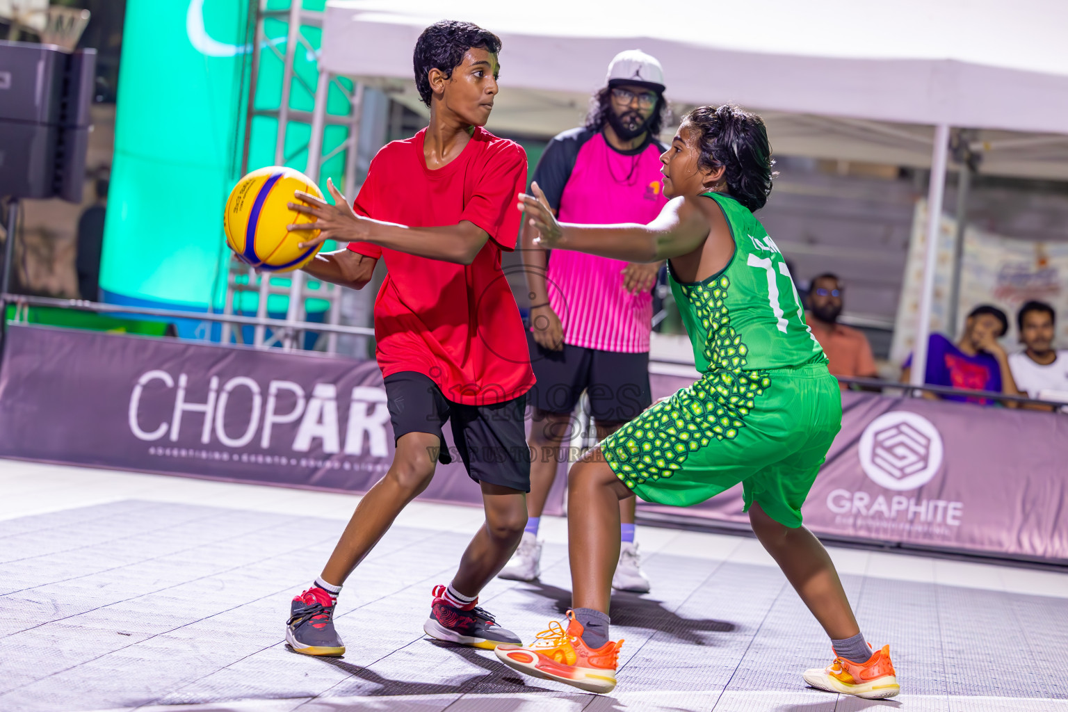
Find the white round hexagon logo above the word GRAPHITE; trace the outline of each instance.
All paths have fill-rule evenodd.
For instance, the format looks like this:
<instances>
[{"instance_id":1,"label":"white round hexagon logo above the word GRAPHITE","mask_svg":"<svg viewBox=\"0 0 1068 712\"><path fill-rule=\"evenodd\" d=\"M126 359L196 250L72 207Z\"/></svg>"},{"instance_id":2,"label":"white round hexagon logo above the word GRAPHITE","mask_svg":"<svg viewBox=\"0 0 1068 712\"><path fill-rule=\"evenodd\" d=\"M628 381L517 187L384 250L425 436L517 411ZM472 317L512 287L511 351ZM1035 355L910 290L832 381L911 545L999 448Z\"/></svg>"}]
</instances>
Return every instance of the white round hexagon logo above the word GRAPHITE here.
<instances>
[{"instance_id":1,"label":"white round hexagon logo above the word GRAPHITE","mask_svg":"<svg viewBox=\"0 0 1068 712\"><path fill-rule=\"evenodd\" d=\"M864 429L859 455L864 474L879 487L914 490L942 466L942 436L923 415L892 411Z\"/></svg>"}]
</instances>

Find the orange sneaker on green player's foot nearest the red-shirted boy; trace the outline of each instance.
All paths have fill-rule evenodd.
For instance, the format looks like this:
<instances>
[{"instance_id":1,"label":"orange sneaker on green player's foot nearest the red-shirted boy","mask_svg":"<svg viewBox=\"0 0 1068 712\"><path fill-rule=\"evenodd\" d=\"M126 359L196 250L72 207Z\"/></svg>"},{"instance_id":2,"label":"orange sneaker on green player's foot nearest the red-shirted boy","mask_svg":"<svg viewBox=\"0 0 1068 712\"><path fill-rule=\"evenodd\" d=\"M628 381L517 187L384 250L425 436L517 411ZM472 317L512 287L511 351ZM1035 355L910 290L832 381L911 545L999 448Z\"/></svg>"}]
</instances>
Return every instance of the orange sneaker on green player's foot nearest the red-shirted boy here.
<instances>
[{"instance_id":1,"label":"orange sneaker on green player's foot nearest the red-shirted boy","mask_svg":"<svg viewBox=\"0 0 1068 712\"><path fill-rule=\"evenodd\" d=\"M567 630L560 621L549 623L549 630L537 634L530 646L499 645L498 659L508 667L543 680L556 680L564 684L598 694L610 693L615 687L615 668L623 640L609 640L592 649L582 639L582 623L575 613L567 612L570 622Z\"/></svg>"}]
</instances>

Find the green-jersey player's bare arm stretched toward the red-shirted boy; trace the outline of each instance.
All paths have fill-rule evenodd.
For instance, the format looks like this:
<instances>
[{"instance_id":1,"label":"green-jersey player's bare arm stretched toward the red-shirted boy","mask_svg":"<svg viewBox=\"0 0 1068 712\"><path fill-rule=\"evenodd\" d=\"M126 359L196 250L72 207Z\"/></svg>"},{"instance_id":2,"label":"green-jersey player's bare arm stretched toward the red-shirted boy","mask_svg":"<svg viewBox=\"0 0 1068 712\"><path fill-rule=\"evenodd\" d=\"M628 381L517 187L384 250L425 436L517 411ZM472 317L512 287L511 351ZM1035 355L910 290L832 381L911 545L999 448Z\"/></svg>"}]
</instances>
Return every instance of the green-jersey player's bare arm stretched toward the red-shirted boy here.
<instances>
[{"instance_id":1,"label":"green-jersey player's bare arm stretched toward the red-shirted boy","mask_svg":"<svg viewBox=\"0 0 1068 712\"><path fill-rule=\"evenodd\" d=\"M519 196L530 224L540 236L535 244L549 250L574 250L627 262L651 263L685 255L708 238L708 218L697 204L700 197L676 197L647 225L577 225L556 221L537 184L535 195Z\"/></svg>"}]
</instances>

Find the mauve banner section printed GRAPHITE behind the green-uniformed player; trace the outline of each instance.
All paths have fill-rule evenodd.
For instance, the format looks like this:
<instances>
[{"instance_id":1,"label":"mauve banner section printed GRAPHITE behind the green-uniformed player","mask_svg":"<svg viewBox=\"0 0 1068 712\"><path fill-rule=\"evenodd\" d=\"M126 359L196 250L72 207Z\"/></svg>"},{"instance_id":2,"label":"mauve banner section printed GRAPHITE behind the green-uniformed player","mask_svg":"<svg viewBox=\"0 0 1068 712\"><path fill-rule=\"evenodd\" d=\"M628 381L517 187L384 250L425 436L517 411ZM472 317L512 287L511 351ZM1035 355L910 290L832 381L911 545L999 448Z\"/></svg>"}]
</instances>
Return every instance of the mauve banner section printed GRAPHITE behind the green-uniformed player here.
<instances>
[{"instance_id":1,"label":"mauve banner section printed GRAPHITE behind the green-uniformed player","mask_svg":"<svg viewBox=\"0 0 1068 712\"><path fill-rule=\"evenodd\" d=\"M654 397L689 385L654 379ZM842 394L842 432L805 501L805 526L844 539L1068 560L1068 415ZM749 524L741 487L654 517Z\"/></svg>"}]
</instances>

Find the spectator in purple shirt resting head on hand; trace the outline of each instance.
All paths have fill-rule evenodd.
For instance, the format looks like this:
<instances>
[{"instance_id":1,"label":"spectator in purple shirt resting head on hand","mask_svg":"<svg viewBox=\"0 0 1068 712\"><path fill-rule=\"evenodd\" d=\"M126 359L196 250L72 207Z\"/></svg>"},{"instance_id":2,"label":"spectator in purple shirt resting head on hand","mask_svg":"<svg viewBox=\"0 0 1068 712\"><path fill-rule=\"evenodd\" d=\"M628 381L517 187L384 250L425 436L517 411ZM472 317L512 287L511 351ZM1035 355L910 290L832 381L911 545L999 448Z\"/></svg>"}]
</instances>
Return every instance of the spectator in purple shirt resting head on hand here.
<instances>
[{"instance_id":1,"label":"spectator in purple shirt resting head on hand","mask_svg":"<svg viewBox=\"0 0 1068 712\"><path fill-rule=\"evenodd\" d=\"M1008 318L996 306L980 304L964 321L964 333L954 344L942 334L931 334L927 342L927 373L924 382L969 391L993 391L1021 395L1012 380L1008 354L998 339L1008 331ZM901 380L909 382L912 354L905 361ZM991 406L994 400L978 396L924 393L925 397L945 400L967 400ZM1015 404L1006 404L1015 406Z\"/></svg>"}]
</instances>

